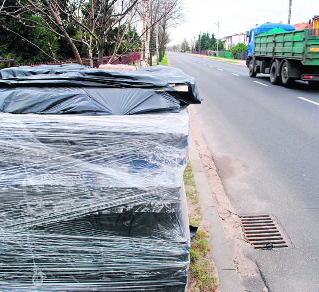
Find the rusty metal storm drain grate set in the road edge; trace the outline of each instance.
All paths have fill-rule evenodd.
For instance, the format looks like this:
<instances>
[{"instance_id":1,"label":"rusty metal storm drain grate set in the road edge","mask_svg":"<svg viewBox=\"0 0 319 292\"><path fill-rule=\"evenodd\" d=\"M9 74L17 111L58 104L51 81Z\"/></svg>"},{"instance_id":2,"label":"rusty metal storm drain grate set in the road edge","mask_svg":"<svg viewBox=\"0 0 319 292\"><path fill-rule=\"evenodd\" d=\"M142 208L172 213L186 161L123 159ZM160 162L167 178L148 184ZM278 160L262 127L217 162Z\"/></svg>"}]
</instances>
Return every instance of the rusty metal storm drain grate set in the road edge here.
<instances>
[{"instance_id":1,"label":"rusty metal storm drain grate set in the road edge","mask_svg":"<svg viewBox=\"0 0 319 292\"><path fill-rule=\"evenodd\" d=\"M291 248L293 245L271 215L240 216L246 239L255 249Z\"/></svg>"}]
</instances>

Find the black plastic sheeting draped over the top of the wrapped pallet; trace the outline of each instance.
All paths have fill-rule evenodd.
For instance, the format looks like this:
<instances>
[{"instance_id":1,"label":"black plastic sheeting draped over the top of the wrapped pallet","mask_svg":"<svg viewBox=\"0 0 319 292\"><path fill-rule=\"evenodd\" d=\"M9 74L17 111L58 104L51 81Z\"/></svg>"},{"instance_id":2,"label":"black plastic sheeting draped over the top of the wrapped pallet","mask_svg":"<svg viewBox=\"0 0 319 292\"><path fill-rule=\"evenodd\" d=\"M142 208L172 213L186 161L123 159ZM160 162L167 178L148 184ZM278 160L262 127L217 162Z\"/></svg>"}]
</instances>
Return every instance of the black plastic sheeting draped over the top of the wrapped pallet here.
<instances>
[{"instance_id":1,"label":"black plastic sheeting draped over the top of the wrapped pallet","mask_svg":"<svg viewBox=\"0 0 319 292\"><path fill-rule=\"evenodd\" d=\"M187 84L189 90L180 92L171 84ZM0 112L3 113L179 112L201 100L193 77L165 66L124 71L64 64L0 70Z\"/></svg>"}]
</instances>

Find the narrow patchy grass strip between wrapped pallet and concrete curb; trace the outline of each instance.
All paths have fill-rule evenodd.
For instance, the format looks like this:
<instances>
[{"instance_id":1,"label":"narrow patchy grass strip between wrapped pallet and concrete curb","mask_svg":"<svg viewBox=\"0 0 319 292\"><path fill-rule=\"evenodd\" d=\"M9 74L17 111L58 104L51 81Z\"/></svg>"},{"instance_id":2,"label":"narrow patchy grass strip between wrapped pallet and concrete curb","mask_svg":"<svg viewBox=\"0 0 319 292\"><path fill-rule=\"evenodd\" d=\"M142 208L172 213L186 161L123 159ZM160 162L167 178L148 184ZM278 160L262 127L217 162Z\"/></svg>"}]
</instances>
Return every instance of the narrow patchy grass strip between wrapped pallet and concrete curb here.
<instances>
[{"instance_id":1,"label":"narrow patchy grass strip between wrapped pallet and concrete curb","mask_svg":"<svg viewBox=\"0 0 319 292\"><path fill-rule=\"evenodd\" d=\"M184 172L184 184L187 197L189 224L198 226L196 235L190 242L190 265L188 292L215 292L218 279L215 277L214 266L210 259L210 234L203 231L203 218L199 205L198 191L194 180L192 166L188 162Z\"/></svg>"}]
</instances>

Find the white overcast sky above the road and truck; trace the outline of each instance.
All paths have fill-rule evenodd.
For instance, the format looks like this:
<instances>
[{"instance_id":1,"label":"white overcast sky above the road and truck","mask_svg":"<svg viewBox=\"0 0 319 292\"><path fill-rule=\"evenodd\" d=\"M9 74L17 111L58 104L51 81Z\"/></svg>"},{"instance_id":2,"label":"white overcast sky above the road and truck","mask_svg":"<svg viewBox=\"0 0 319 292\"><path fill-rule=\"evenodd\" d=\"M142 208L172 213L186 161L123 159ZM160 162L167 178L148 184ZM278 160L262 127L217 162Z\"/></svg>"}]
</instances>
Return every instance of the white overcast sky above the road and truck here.
<instances>
[{"instance_id":1,"label":"white overcast sky above the road and truck","mask_svg":"<svg viewBox=\"0 0 319 292\"><path fill-rule=\"evenodd\" d=\"M242 33L257 23L288 22L289 0L183 0L185 21L170 28L169 45L190 43L201 31L219 37ZM292 0L291 24L307 22L319 15L319 0Z\"/></svg>"}]
</instances>

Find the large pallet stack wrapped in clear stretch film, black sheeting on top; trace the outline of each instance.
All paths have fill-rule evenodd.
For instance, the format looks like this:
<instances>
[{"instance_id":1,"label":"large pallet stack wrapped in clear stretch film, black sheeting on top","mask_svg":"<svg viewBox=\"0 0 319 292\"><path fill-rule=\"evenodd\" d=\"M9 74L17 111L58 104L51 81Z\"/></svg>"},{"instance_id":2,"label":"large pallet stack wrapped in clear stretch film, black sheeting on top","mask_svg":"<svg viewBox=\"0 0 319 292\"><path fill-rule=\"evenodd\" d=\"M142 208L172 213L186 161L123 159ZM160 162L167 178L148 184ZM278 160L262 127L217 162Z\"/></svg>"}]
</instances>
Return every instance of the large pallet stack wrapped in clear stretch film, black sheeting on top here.
<instances>
[{"instance_id":1,"label":"large pallet stack wrapped in clear stretch film, black sheeting on top","mask_svg":"<svg viewBox=\"0 0 319 292\"><path fill-rule=\"evenodd\" d=\"M161 72L187 95L159 68L74 65L91 84L73 66L48 67L0 70L0 291L184 292L192 78ZM56 87L35 86L50 75ZM148 75L159 80L141 89ZM86 87L61 85L81 78Z\"/></svg>"}]
</instances>

